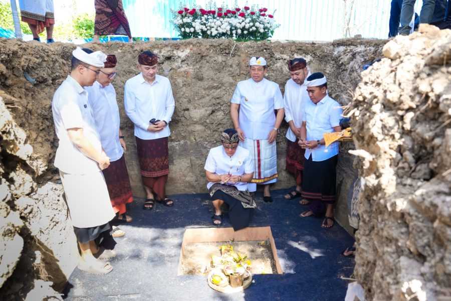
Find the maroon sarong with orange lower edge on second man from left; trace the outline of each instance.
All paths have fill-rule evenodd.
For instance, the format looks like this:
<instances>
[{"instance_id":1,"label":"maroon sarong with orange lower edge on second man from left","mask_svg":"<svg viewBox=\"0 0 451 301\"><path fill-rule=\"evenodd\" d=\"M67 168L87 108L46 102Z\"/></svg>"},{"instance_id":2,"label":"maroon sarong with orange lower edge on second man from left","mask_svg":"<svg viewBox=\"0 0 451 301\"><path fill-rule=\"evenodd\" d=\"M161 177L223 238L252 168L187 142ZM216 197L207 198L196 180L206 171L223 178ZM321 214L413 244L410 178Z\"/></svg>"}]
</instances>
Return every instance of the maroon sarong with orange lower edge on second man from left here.
<instances>
[{"instance_id":1,"label":"maroon sarong with orange lower edge on second man from left","mask_svg":"<svg viewBox=\"0 0 451 301\"><path fill-rule=\"evenodd\" d=\"M114 212L124 214L127 211L125 204L133 201L124 155L121 159L111 162L102 172Z\"/></svg>"}]
</instances>

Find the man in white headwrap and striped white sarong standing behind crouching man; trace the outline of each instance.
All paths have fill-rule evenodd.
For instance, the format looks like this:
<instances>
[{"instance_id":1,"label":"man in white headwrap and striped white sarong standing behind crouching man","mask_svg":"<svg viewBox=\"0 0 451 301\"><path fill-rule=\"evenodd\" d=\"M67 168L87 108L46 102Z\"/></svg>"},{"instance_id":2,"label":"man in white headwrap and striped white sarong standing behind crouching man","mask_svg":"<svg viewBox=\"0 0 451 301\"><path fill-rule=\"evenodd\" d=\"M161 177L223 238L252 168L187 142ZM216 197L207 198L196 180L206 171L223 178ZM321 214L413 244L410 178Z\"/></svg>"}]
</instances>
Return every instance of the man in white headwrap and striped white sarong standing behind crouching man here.
<instances>
[{"instance_id":1,"label":"man in white headwrap and striped white sarong standing behind crouching man","mask_svg":"<svg viewBox=\"0 0 451 301\"><path fill-rule=\"evenodd\" d=\"M272 202L270 184L278 178L276 138L284 119L284 100L279 85L265 78L268 68L263 57L252 57L249 71L251 78L237 84L230 114L240 144L253 156L254 179L248 189L255 192L257 184L264 185L263 200Z\"/></svg>"}]
</instances>

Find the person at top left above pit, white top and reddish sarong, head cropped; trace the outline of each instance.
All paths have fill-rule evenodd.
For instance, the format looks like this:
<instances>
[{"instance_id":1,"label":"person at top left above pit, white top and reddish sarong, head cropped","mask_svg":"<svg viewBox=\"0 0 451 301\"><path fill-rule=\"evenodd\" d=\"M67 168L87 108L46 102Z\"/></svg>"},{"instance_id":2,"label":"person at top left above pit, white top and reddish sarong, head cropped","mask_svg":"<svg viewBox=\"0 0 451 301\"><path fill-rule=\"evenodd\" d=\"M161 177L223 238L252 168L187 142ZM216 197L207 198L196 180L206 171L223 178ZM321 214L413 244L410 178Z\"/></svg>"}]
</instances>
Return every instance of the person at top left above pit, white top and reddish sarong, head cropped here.
<instances>
[{"instance_id":1,"label":"person at top left above pit, white top and reddish sarong, head cropped","mask_svg":"<svg viewBox=\"0 0 451 301\"><path fill-rule=\"evenodd\" d=\"M19 0L22 22L28 23L33 34L33 40L41 41L39 34L46 29L47 44L52 44L55 10L53 0Z\"/></svg>"}]
</instances>

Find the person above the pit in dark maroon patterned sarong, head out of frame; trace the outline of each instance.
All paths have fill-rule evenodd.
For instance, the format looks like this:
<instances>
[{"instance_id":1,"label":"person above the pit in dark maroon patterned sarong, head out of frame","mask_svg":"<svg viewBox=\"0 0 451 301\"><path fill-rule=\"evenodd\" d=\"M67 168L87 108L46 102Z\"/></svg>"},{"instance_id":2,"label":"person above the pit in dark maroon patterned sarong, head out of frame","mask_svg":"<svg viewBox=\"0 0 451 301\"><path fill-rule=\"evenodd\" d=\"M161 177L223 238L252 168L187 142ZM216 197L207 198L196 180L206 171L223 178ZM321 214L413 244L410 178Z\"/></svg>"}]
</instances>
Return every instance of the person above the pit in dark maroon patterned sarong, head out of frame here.
<instances>
[{"instance_id":1,"label":"person above the pit in dark maroon patterned sarong, head out of frame","mask_svg":"<svg viewBox=\"0 0 451 301\"><path fill-rule=\"evenodd\" d=\"M96 17L94 19L93 42L99 42L100 36L123 35L133 42L122 0L95 0Z\"/></svg>"}]
</instances>

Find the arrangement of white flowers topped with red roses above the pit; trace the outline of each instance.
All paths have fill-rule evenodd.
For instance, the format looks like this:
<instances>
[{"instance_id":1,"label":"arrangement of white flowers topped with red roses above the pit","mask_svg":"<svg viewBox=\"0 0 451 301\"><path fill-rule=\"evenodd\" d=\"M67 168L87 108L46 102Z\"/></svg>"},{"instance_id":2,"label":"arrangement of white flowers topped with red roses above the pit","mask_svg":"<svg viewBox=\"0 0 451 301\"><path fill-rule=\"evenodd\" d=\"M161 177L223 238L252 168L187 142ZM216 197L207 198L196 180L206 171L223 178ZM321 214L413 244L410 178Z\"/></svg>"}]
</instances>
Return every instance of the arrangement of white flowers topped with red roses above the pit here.
<instances>
[{"instance_id":1,"label":"arrangement of white flowers topped with red roses above the pit","mask_svg":"<svg viewBox=\"0 0 451 301\"><path fill-rule=\"evenodd\" d=\"M237 39L266 40L271 38L280 25L273 15L267 15L266 8L244 7L234 10L184 8L174 12L173 24L182 39Z\"/></svg>"}]
</instances>

